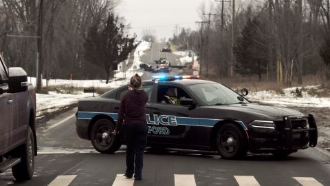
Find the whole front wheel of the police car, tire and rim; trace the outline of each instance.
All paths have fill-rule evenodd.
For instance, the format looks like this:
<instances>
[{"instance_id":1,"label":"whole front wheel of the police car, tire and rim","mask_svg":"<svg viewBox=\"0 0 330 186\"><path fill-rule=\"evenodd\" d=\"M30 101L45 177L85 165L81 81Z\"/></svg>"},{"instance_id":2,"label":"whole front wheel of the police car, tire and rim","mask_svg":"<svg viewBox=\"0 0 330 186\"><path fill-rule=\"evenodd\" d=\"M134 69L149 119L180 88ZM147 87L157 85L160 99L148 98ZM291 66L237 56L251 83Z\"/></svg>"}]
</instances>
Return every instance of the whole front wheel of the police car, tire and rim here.
<instances>
[{"instance_id":1,"label":"whole front wheel of the police car, tire and rim","mask_svg":"<svg viewBox=\"0 0 330 186\"><path fill-rule=\"evenodd\" d=\"M239 127L227 123L217 133L217 149L222 158L241 158L248 152Z\"/></svg>"}]
</instances>

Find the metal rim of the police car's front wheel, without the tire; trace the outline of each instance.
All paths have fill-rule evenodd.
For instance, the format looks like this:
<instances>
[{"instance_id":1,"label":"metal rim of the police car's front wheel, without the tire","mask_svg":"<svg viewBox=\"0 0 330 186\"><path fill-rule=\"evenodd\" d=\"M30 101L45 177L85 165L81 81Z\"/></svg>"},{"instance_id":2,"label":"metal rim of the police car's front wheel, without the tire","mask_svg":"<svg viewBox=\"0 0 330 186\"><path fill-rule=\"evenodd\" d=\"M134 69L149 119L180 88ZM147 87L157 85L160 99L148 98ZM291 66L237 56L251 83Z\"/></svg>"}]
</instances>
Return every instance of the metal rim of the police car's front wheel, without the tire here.
<instances>
[{"instance_id":1,"label":"metal rim of the police car's front wheel, without the tire","mask_svg":"<svg viewBox=\"0 0 330 186\"><path fill-rule=\"evenodd\" d=\"M237 150L237 136L234 132L227 130L221 134L218 139L219 149L225 155L232 155L236 153Z\"/></svg>"}]
</instances>

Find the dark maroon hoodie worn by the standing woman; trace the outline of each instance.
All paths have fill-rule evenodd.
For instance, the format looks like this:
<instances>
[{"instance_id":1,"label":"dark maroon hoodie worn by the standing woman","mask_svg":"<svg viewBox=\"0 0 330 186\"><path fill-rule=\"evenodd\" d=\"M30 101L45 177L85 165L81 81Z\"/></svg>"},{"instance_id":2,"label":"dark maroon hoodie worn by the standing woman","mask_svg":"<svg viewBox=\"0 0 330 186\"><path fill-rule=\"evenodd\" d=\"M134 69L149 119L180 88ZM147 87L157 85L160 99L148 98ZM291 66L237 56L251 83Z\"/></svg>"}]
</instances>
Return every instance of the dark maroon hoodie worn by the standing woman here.
<instances>
[{"instance_id":1,"label":"dark maroon hoodie worn by the standing woman","mask_svg":"<svg viewBox=\"0 0 330 186\"><path fill-rule=\"evenodd\" d=\"M146 103L148 95L144 90L130 90L120 102L117 130L122 127L122 121L129 123L146 123Z\"/></svg>"}]
</instances>

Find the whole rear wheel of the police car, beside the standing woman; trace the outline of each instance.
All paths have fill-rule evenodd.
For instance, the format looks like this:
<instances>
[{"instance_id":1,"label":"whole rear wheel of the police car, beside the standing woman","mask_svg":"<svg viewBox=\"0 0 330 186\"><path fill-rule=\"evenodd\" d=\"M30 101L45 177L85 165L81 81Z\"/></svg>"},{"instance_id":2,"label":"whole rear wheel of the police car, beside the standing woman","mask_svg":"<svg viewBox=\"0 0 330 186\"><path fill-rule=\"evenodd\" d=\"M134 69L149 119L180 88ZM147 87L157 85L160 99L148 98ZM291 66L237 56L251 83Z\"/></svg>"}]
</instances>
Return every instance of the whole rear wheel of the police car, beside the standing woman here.
<instances>
[{"instance_id":1,"label":"whole rear wheel of the police car, beside the standing woman","mask_svg":"<svg viewBox=\"0 0 330 186\"><path fill-rule=\"evenodd\" d=\"M113 154L120 146L119 135L114 136L115 125L107 118L101 118L91 127L91 144L100 153Z\"/></svg>"}]
</instances>

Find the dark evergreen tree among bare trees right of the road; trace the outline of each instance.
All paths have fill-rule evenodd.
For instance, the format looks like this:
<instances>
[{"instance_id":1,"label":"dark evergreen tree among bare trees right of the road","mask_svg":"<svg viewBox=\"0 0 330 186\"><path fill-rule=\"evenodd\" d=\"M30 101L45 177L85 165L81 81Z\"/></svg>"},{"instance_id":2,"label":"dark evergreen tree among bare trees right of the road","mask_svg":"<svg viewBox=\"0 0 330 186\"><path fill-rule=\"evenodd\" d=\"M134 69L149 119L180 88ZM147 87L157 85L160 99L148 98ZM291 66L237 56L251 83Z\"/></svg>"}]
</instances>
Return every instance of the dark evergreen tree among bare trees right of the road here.
<instances>
[{"instance_id":1,"label":"dark evergreen tree among bare trees right of the road","mask_svg":"<svg viewBox=\"0 0 330 186\"><path fill-rule=\"evenodd\" d=\"M265 25L256 17L248 19L241 36L234 46L236 56L235 72L243 76L257 74L261 80L261 74L267 70L268 50L265 39Z\"/></svg>"}]
</instances>

